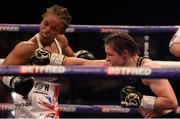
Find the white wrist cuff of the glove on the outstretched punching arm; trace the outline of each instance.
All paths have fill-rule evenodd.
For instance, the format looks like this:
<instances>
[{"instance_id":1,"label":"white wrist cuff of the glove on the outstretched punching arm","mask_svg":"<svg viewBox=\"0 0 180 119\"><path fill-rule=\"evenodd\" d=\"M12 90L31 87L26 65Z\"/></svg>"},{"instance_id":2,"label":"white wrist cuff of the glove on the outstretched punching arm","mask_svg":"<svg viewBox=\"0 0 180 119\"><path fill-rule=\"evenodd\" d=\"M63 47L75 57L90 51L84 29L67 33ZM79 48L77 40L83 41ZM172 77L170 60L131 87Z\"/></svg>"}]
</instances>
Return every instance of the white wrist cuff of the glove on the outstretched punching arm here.
<instances>
[{"instance_id":1,"label":"white wrist cuff of the glove on the outstretched punching arm","mask_svg":"<svg viewBox=\"0 0 180 119\"><path fill-rule=\"evenodd\" d=\"M52 53L50 58L50 65L62 65L64 64L64 61L66 60L65 55L60 55L57 53Z\"/></svg>"}]
</instances>

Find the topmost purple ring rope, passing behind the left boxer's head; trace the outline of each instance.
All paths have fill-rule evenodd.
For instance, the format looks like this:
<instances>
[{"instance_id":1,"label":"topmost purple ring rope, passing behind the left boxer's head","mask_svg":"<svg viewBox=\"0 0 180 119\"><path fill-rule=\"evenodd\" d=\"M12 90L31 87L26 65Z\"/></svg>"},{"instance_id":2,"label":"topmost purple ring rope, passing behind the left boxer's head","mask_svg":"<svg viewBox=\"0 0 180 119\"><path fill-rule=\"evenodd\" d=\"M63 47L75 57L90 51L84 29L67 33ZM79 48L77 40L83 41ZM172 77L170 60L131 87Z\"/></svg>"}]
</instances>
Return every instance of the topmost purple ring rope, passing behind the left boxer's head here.
<instances>
[{"instance_id":1,"label":"topmost purple ring rope, passing behind the left boxer's head","mask_svg":"<svg viewBox=\"0 0 180 119\"><path fill-rule=\"evenodd\" d=\"M119 26L119 25L70 25L66 32L107 33L124 31L127 33L171 33L179 26ZM39 24L0 24L1 32L38 32Z\"/></svg>"}]
</instances>

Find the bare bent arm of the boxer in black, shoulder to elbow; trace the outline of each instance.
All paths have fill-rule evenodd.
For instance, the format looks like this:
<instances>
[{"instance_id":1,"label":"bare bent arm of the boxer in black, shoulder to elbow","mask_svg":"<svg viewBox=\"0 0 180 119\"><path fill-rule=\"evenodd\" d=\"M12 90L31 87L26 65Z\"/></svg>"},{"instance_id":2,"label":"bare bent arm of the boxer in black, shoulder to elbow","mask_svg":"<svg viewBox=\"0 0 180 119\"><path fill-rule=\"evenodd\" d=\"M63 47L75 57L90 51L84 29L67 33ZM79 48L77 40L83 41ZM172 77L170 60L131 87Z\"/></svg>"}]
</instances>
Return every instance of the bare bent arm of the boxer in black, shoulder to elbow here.
<instances>
[{"instance_id":1,"label":"bare bent arm of the boxer in black, shoulder to elbow","mask_svg":"<svg viewBox=\"0 0 180 119\"><path fill-rule=\"evenodd\" d=\"M160 64L144 60L143 67L159 68ZM151 88L156 95L156 110L174 109L177 107L177 98L168 79L143 79L143 83Z\"/></svg>"}]
</instances>

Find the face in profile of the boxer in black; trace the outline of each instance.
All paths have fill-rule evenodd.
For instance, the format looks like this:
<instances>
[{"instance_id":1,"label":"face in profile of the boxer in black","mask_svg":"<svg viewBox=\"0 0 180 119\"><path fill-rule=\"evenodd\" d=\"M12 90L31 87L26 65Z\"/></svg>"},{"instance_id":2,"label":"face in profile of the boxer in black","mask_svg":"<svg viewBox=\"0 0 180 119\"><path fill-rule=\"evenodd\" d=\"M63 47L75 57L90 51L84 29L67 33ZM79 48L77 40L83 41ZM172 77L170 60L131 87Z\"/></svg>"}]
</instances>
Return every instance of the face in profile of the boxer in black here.
<instances>
[{"instance_id":1,"label":"face in profile of the boxer in black","mask_svg":"<svg viewBox=\"0 0 180 119\"><path fill-rule=\"evenodd\" d=\"M105 44L106 61L112 66L124 66L124 56L115 52L110 45Z\"/></svg>"}]
</instances>

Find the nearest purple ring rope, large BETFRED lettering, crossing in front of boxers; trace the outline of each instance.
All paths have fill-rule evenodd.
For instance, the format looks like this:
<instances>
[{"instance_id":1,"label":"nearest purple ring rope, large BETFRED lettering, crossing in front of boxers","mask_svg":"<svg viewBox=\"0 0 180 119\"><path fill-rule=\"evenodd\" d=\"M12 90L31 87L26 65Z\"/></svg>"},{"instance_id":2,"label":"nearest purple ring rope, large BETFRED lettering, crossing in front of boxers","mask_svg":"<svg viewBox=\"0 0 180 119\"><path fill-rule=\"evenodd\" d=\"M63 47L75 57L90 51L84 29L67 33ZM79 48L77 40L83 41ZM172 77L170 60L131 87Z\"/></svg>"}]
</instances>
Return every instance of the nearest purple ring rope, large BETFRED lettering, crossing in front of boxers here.
<instances>
[{"instance_id":1,"label":"nearest purple ring rope, large BETFRED lettering, crossing in front of boxers","mask_svg":"<svg viewBox=\"0 0 180 119\"><path fill-rule=\"evenodd\" d=\"M25 76L96 76L96 77L142 77L179 78L179 68L145 67L85 67L85 66L0 66L0 75ZM119 78L116 78L119 79Z\"/></svg>"}]
</instances>

